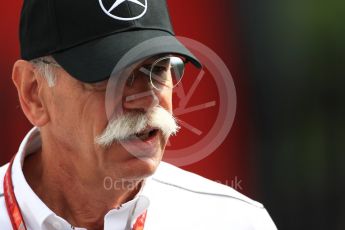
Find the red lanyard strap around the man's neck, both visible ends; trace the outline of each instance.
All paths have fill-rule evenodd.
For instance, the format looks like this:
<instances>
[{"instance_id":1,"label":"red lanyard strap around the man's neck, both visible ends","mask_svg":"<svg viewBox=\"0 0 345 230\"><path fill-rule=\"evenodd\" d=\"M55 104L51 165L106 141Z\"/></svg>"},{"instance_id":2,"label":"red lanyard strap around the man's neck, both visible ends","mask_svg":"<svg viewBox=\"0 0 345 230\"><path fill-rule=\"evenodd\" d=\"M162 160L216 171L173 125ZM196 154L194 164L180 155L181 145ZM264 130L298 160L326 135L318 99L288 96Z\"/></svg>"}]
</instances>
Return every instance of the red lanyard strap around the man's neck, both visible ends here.
<instances>
[{"instance_id":1,"label":"red lanyard strap around the man's neck, both visible ends","mask_svg":"<svg viewBox=\"0 0 345 230\"><path fill-rule=\"evenodd\" d=\"M13 190L11 176L13 160L14 158L11 160L4 178L4 196L6 209L11 219L13 230L26 230L24 218L22 216L22 213L20 212L20 208ZM146 214L147 210L145 210L144 213L137 218L135 224L133 225L133 230L144 229Z\"/></svg>"}]
</instances>

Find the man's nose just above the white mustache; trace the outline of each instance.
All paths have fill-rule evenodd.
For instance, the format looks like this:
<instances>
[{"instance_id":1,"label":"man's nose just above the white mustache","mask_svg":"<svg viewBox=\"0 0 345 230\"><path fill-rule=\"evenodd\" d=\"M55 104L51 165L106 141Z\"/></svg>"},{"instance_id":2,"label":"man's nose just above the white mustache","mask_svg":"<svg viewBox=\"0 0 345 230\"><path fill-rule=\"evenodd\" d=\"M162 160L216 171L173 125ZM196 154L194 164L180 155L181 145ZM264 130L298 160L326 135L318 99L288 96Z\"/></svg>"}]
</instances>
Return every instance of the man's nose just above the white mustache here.
<instances>
[{"instance_id":1,"label":"man's nose just above the white mustache","mask_svg":"<svg viewBox=\"0 0 345 230\"><path fill-rule=\"evenodd\" d=\"M130 79L131 80L131 79ZM151 86L149 77L140 74L129 86L126 86L123 98L124 109L148 111L159 104L159 99Z\"/></svg>"}]
</instances>

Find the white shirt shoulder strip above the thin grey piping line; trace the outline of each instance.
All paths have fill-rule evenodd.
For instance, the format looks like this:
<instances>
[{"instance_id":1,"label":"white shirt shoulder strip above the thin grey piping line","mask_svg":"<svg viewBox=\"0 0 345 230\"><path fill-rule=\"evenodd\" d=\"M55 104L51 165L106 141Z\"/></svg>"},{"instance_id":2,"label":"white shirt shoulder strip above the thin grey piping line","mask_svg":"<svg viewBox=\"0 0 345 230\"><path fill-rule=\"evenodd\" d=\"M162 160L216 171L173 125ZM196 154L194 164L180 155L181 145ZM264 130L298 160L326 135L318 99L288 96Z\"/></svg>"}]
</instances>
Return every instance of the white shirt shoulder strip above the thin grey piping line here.
<instances>
[{"instance_id":1,"label":"white shirt shoulder strip above the thin grey piping line","mask_svg":"<svg viewBox=\"0 0 345 230\"><path fill-rule=\"evenodd\" d=\"M256 208L263 208L261 203L250 199L232 187L209 180L165 162L161 162L152 179L157 183L171 186L187 193L232 199Z\"/></svg>"}]
</instances>

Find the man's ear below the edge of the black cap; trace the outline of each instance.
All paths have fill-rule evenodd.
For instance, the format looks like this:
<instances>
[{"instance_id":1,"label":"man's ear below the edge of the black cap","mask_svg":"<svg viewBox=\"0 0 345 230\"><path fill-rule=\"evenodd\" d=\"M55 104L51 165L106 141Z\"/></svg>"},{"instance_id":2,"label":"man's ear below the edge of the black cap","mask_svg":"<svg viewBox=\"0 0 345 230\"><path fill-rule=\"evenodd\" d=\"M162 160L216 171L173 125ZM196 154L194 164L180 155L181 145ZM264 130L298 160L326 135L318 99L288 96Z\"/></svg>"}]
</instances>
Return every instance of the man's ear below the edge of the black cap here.
<instances>
[{"instance_id":1,"label":"man's ear below the edge of the black cap","mask_svg":"<svg viewBox=\"0 0 345 230\"><path fill-rule=\"evenodd\" d=\"M34 66L18 60L12 71L12 80L18 91L22 110L31 124L42 127L49 121L48 111L42 100L41 80Z\"/></svg>"}]
</instances>

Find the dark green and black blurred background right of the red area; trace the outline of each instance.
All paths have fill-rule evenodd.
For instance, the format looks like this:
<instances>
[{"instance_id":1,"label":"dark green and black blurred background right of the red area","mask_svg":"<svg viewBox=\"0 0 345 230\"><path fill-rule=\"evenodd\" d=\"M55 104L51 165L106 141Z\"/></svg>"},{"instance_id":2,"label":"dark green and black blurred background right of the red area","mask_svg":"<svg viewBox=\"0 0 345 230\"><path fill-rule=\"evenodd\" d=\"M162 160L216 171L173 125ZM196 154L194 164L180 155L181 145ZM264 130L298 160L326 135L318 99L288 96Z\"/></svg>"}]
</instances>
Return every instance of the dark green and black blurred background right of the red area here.
<instances>
[{"instance_id":1,"label":"dark green and black blurred background right of the red area","mask_svg":"<svg viewBox=\"0 0 345 230\"><path fill-rule=\"evenodd\" d=\"M345 229L345 2L235 5L265 205L281 229Z\"/></svg>"}]
</instances>

